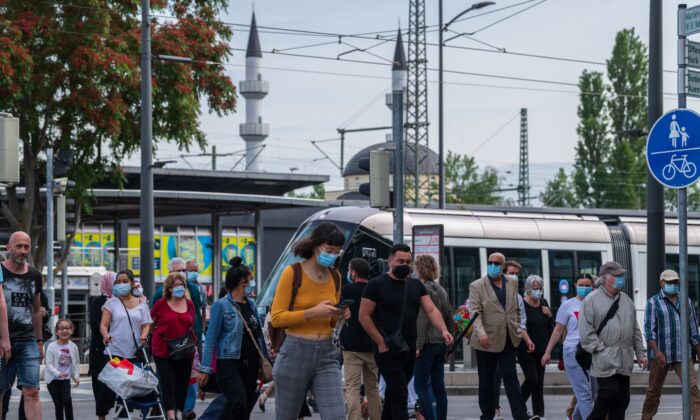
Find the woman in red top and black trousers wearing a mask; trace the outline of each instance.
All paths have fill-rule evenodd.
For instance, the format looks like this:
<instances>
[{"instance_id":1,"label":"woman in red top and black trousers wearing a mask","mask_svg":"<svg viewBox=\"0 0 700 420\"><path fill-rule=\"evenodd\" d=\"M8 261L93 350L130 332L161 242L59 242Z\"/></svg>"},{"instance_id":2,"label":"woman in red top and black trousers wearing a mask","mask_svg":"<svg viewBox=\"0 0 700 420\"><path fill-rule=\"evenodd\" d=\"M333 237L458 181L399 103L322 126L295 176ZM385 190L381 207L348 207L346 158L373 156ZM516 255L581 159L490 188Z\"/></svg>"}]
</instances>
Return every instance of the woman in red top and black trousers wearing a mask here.
<instances>
[{"instance_id":1,"label":"woman in red top and black trousers wearing a mask","mask_svg":"<svg viewBox=\"0 0 700 420\"><path fill-rule=\"evenodd\" d=\"M151 352L160 375L160 389L168 419L182 412L195 353L194 304L185 297L185 276L170 273L163 283L163 299L151 310Z\"/></svg>"}]
</instances>

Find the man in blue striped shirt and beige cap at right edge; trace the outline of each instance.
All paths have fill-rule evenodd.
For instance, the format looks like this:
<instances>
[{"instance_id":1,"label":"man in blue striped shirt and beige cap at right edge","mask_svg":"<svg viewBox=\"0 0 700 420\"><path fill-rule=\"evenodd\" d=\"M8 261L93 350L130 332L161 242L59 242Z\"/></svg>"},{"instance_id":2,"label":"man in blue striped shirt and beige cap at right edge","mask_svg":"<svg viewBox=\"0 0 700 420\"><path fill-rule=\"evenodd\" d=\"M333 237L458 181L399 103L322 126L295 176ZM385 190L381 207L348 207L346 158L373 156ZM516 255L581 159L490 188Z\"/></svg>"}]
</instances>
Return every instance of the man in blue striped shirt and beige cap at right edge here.
<instances>
[{"instance_id":1,"label":"man in blue striped shirt and beige cap at right edge","mask_svg":"<svg viewBox=\"0 0 700 420\"><path fill-rule=\"evenodd\" d=\"M644 398L642 419L652 419L661 401L661 389L669 369L673 369L681 377L681 302L679 299L680 277L673 270L661 273L659 285L661 291L652 296L647 302L644 316L644 335L647 337L649 348L649 387ZM688 308L692 302L688 297ZM700 333L698 333L698 318L694 310L690 310L690 343L695 347L695 353L700 354ZM700 391L696 381L693 361L690 361L690 394L694 419L700 419Z\"/></svg>"}]
</instances>

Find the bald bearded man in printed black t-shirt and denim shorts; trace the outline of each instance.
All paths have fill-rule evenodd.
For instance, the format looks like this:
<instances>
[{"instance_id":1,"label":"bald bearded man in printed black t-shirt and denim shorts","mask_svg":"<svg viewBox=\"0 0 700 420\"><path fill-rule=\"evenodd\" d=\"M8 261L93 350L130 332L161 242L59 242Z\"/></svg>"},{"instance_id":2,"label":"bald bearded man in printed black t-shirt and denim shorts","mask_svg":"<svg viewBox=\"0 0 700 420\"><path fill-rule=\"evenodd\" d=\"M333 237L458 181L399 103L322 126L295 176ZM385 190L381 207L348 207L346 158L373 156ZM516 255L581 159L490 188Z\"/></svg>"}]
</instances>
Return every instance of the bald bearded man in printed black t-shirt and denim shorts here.
<instances>
[{"instance_id":1,"label":"bald bearded man in printed black t-shirt and denim shorts","mask_svg":"<svg viewBox=\"0 0 700 420\"><path fill-rule=\"evenodd\" d=\"M17 378L29 420L41 419L39 367L44 357L41 313L41 273L29 265L32 242L25 232L10 235L8 259L2 263L0 347L5 365L0 387L7 390ZM9 340L8 340L9 338Z\"/></svg>"}]
</instances>

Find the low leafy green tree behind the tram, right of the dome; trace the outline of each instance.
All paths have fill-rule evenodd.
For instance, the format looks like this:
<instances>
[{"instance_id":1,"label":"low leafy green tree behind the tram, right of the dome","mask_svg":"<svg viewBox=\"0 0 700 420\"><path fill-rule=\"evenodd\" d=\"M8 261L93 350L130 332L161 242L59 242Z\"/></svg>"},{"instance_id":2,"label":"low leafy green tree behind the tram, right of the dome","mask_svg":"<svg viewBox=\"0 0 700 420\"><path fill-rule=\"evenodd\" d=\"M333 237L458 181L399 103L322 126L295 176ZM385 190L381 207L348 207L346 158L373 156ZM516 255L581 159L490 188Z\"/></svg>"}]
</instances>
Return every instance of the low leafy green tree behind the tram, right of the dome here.
<instances>
[{"instance_id":1,"label":"low leafy green tree behind the tram, right of the dome","mask_svg":"<svg viewBox=\"0 0 700 420\"><path fill-rule=\"evenodd\" d=\"M473 157L449 151L445 159L445 180L448 203L498 204L502 201L498 171L491 167L480 171Z\"/></svg>"}]
</instances>

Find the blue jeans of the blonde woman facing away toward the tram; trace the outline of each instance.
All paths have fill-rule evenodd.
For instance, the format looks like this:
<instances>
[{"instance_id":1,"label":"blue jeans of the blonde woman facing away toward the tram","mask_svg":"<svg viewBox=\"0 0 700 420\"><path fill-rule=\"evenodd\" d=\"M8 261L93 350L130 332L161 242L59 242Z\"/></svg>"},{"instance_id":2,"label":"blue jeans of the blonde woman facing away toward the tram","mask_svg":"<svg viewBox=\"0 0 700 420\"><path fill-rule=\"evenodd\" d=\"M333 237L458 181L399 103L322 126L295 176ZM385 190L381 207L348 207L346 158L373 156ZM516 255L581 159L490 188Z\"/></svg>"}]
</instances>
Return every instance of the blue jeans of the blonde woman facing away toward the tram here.
<instances>
[{"instance_id":1,"label":"blue jeans of the blonde woman facing away toward the tram","mask_svg":"<svg viewBox=\"0 0 700 420\"><path fill-rule=\"evenodd\" d=\"M445 344L426 344L416 359L413 388L423 407L426 420L447 418L447 392L445 391Z\"/></svg>"}]
</instances>

